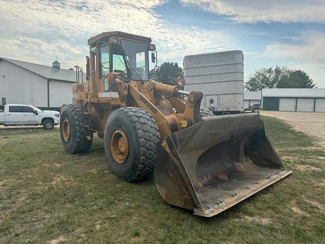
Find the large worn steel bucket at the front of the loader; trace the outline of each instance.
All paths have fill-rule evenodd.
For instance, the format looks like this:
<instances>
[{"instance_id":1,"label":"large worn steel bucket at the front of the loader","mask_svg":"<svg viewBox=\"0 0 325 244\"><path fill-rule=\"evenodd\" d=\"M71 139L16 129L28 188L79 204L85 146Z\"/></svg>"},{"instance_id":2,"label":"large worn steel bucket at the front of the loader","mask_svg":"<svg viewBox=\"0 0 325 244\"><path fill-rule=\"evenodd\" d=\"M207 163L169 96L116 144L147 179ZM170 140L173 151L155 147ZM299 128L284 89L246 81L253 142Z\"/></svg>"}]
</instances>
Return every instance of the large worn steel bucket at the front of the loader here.
<instances>
[{"instance_id":1,"label":"large worn steel bucket at the front of the loader","mask_svg":"<svg viewBox=\"0 0 325 244\"><path fill-rule=\"evenodd\" d=\"M203 117L158 145L165 201L212 217L289 175L258 113Z\"/></svg>"}]
</instances>

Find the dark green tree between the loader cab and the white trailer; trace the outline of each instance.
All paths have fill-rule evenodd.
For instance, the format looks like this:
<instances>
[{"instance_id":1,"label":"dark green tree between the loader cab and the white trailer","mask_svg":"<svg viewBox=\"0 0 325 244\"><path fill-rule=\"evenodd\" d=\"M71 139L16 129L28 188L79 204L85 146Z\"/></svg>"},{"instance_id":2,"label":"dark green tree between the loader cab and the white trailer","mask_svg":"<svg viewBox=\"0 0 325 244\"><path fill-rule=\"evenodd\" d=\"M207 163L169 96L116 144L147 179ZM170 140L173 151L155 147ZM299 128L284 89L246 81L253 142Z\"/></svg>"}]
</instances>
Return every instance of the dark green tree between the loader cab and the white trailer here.
<instances>
[{"instance_id":1,"label":"dark green tree between the loader cab and the white trailer","mask_svg":"<svg viewBox=\"0 0 325 244\"><path fill-rule=\"evenodd\" d=\"M165 62L151 71L150 80L168 83L173 78L183 78L183 69L177 63Z\"/></svg>"}]
</instances>

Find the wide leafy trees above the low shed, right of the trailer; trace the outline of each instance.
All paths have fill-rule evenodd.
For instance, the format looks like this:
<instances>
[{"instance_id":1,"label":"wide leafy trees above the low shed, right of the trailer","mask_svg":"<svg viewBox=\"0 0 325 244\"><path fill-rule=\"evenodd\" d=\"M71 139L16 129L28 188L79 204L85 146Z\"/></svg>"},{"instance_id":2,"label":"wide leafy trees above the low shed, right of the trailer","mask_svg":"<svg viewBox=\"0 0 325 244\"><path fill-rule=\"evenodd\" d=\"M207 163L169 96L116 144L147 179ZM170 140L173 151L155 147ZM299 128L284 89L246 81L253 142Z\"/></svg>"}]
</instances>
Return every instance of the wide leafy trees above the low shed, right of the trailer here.
<instances>
[{"instance_id":1,"label":"wide leafy trees above the low shed, right of the trailer","mask_svg":"<svg viewBox=\"0 0 325 244\"><path fill-rule=\"evenodd\" d=\"M313 80L302 70L288 69L276 66L268 69L256 70L248 77L244 88L258 91L263 88L314 88ZM316 88L316 87L315 87Z\"/></svg>"}]
</instances>

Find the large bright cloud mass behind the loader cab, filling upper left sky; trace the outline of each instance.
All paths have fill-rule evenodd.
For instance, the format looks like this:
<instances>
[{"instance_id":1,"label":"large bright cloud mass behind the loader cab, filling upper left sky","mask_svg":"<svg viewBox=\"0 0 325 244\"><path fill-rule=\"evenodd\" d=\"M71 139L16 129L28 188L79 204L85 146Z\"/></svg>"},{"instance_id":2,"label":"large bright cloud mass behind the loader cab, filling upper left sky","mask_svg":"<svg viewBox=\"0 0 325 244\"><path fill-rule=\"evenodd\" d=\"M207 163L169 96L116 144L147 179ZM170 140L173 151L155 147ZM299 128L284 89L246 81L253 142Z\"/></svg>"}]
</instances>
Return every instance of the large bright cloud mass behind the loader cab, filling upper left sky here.
<instances>
[{"instance_id":1,"label":"large bright cloud mass behind the loader cab, filling upper left sky","mask_svg":"<svg viewBox=\"0 0 325 244\"><path fill-rule=\"evenodd\" d=\"M29 62L51 64L58 56L65 68L83 65L87 39L107 31L151 37L160 61L229 49L234 43L224 33L160 20L153 8L166 0L0 2L0 56Z\"/></svg>"}]
</instances>

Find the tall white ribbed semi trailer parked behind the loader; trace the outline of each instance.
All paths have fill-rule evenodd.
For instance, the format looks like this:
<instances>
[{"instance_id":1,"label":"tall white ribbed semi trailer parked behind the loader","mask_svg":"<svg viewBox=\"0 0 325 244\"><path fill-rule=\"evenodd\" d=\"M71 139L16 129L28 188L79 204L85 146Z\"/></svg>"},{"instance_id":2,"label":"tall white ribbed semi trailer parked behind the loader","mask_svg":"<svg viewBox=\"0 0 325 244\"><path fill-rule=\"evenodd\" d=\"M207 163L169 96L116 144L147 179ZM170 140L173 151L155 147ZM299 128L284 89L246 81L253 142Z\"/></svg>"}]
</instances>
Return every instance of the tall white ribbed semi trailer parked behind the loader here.
<instances>
[{"instance_id":1,"label":"tall white ribbed semi trailer parked behind the loader","mask_svg":"<svg viewBox=\"0 0 325 244\"><path fill-rule=\"evenodd\" d=\"M185 90L201 90L201 106L215 115L244 108L244 56L240 50L187 55L183 60Z\"/></svg>"}]
</instances>

